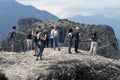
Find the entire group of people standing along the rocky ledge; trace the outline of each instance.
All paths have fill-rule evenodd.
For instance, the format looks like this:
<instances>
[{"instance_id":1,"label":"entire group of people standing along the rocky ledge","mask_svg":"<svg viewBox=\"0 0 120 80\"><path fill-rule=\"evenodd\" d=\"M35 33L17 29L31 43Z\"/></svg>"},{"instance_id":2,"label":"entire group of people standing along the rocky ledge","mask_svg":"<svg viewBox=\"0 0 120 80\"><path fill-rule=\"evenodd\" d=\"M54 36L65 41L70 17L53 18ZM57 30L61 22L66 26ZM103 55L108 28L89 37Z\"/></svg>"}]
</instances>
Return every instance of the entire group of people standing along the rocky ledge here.
<instances>
[{"instance_id":1,"label":"entire group of people standing along the rocky ledge","mask_svg":"<svg viewBox=\"0 0 120 80\"><path fill-rule=\"evenodd\" d=\"M11 51L14 52L14 42L16 40L16 26L13 26L11 36L10 36L10 41L12 42L11 44ZM26 45L27 45L27 50L30 51L32 50L34 45L34 50L35 54L34 56L37 56L36 60L40 57L42 60L43 56L43 51L46 42L50 41L50 47L53 48L54 50L60 51L60 43L59 43L59 30L57 29L56 26L51 26L51 31L49 34L49 38L46 34L45 29L41 29L41 26L39 26L39 30L27 30L27 38L26 38ZM78 48L79 48L79 41L80 41L80 31L79 27L76 27L75 29L69 28L68 33L67 33L67 39L68 39L68 53L72 54L71 48L73 46L74 42L74 49L76 53L79 53ZM91 48L90 52L93 54L96 54L97 51L97 35L96 33L93 33L91 36Z\"/></svg>"}]
</instances>

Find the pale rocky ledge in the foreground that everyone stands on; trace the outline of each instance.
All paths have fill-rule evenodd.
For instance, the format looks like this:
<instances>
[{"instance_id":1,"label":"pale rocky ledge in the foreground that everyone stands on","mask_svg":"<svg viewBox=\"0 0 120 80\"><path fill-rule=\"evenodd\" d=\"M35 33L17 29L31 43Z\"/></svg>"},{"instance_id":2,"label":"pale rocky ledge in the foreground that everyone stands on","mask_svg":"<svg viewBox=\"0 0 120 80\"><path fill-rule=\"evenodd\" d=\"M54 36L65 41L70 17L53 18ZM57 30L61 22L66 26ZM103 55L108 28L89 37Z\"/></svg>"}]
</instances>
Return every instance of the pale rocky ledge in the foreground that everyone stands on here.
<instances>
[{"instance_id":1,"label":"pale rocky ledge in the foreground that everyone stands on","mask_svg":"<svg viewBox=\"0 0 120 80\"><path fill-rule=\"evenodd\" d=\"M68 54L67 48L45 48L38 61L33 54L0 52L0 80L120 80L119 60L82 50Z\"/></svg>"}]
</instances>

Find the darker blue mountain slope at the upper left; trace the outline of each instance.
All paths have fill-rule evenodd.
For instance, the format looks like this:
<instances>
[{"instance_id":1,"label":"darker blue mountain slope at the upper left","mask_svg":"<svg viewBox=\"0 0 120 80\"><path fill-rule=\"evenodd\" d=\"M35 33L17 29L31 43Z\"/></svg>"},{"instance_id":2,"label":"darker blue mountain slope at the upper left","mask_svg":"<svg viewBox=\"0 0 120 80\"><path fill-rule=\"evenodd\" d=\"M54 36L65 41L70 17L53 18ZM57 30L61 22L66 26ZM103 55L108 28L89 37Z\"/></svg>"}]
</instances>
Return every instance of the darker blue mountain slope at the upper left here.
<instances>
[{"instance_id":1,"label":"darker blue mountain slope at the upper left","mask_svg":"<svg viewBox=\"0 0 120 80\"><path fill-rule=\"evenodd\" d=\"M38 18L43 21L59 19L45 10L25 6L15 0L0 0L0 40L5 37L11 26L16 25L18 19L28 17Z\"/></svg>"}]
</instances>

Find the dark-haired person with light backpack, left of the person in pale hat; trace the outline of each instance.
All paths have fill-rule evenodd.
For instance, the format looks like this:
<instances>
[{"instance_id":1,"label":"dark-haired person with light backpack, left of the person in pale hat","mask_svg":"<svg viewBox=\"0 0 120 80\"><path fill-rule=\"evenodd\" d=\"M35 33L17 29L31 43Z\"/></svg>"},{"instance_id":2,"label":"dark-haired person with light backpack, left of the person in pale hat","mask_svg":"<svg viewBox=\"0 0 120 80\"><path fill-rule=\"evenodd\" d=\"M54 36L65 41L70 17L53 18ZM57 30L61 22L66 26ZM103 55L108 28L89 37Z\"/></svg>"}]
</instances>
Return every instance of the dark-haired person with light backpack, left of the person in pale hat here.
<instances>
[{"instance_id":1,"label":"dark-haired person with light backpack, left of the person in pale hat","mask_svg":"<svg viewBox=\"0 0 120 80\"><path fill-rule=\"evenodd\" d=\"M72 54L71 48L72 48L72 39L73 39L73 29L70 28L68 30L68 53Z\"/></svg>"}]
</instances>

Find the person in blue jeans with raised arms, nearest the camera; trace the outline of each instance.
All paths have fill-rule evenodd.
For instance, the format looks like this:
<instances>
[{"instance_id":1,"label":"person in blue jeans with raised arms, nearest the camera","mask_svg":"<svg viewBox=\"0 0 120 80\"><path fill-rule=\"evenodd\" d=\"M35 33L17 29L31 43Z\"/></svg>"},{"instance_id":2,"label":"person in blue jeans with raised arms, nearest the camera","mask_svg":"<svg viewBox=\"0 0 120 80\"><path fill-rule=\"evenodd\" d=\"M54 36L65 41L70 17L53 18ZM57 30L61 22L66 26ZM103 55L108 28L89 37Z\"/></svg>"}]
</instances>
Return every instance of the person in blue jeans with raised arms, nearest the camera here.
<instances>
[{"instance_id":1,"label":"person in blue jeans with raised arms, nearest the camera","mask_svg":"<svg viewBox=\"0 0 120 80\"><path fill-rule=\"evenodd\" d=\"M46 40L46 35L42 31L40 31L37 34L37 39L38 39L39 51L38 51L38 55L37 55L36 60L38 60L39 57L40 57L40 60L42 60L43 51L44 51L44 41Z\"/></svg>"}]
</instances>

